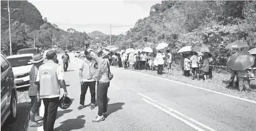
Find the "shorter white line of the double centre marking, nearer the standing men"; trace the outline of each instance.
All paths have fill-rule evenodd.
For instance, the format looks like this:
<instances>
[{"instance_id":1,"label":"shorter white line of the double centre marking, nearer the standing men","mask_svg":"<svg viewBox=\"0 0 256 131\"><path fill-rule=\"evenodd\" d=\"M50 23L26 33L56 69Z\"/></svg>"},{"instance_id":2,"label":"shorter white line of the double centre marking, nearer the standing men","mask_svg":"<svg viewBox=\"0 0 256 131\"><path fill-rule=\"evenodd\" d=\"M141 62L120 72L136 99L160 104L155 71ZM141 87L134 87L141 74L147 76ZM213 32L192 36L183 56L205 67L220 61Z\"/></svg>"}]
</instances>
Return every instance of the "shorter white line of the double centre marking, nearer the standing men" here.
<instances>
[{"instance_id":1,"label":"shorter white line of the double centre marking, nearer the standing men","mask_svg":"<svg viewBox=\"0 0 256 131\"><path fill-rule=\"evenodd\" d=\"M205 131L205 130L203 130L202 128L197 127L196 125L193 125L193 123L190 123L190 122L188 122L187 120L184 120L183 118L178 117L178 116L175 115L174 113L171 113L171 112L169 112L168 110L166 110L166 109L160 107L159 105L156 105L155 103L149 102L149 100L146 100L145 98L142 98L142 100L144 100L145 102L149 103L150 105L152 105L152 106L154 106L154 107L156 107L156 108L159 108L159 109L162 110L163 112L168 113L169 115L171 115L171 116L173 116L174 118L180 120L181 122L186 123L187 125L189 125L189 126L192 127L192 128L195 128L196 130Z\"/></svg>"}]
</instances>

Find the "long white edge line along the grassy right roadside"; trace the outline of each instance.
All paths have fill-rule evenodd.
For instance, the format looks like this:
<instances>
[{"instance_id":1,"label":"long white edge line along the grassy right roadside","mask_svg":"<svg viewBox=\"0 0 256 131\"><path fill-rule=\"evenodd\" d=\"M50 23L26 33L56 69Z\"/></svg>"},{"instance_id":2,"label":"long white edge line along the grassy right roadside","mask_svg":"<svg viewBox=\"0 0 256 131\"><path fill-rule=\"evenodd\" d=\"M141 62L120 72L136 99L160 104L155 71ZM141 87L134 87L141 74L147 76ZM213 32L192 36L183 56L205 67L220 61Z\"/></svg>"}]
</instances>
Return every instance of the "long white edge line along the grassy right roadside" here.
<instances>
[{"instance_id":1,"label":"long white edge line along the grassy right roadside","mask_svg":"<svg viewBox=\"0 0 256 131\"><path fill-rule=\"evenodd\" d=\"M119 68L117 68L119 69ZM220 95L225 95L226 97L232 97L232 98L237 98L239 100L243 100L243 101L246 101L246 102L251 102L251 103L255 103L255 101L253 100L248 100L248 99L245 99L245 98L240 98L240 97L235 97L233 95L228 95L228 94L225 94L225 93L221 93L221 92L216 92L214 90L209 90L209 89L206 89L206 88L201 88L201 87L198 87L198 86L194 86L194 85L189 85L189 84L186 84L186 83L183 83L183 82L179 82L179 81L174 81L174 80L169 80L167 78L161 78L161 77L158 77L158 76L153 76L153 75L147 75L145 73L141 73L141 72L137 72L137 71L131 71L131 70L125 70L125 71L130 71L130 72L133 72L133 73L139 73L141 75L146 75L146 76L151 76L151 77L154 77L154 78L159 78L159 79L162 79L162 80L168 80L168 81L172 81L174 83L179 83L181 85L186 85L186 86L190 86L190 87L193 87L193 88L198 88L198 89L201 89L201 90L206 90L208 92L213 92L213 93L217 93L217 94L220 94Z\"/></svg>"}]
</instances>

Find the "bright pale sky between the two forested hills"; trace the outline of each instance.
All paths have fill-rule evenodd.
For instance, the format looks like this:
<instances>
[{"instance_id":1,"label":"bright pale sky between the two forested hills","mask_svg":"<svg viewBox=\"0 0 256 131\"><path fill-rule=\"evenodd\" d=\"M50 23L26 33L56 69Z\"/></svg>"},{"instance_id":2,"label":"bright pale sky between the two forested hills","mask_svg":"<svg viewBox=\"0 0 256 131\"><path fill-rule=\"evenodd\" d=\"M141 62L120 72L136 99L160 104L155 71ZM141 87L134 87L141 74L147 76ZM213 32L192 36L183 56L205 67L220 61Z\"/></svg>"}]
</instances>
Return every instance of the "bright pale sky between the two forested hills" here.
<instances>
[{"instance_id":1,"label":"bright pale sky between the two forested hills","mask_svg":"<svg viewBox=\"0 0 256 131\"><path fill-rule=\"evenodd\" d=\"M77 31L101 31L110 34L112 26L134 25L138 19L149 16L151 6L161 3L154 1L120 1L120 0L29 0L40 11L43 18L58 28L73 28ZM112 27L111 34L121 34L133 26Z\"/></svg>"}]
</instances>

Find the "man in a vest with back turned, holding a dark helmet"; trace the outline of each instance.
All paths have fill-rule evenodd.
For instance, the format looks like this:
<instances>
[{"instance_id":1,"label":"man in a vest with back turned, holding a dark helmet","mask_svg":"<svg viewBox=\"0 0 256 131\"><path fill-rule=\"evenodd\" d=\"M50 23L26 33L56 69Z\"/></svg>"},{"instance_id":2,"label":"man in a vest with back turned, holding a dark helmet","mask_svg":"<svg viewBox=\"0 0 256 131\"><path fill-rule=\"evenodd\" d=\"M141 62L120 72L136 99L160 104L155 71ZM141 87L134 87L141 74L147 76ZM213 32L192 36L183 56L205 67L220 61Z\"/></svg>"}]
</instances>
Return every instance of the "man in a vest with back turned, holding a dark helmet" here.
<instances>
[{"instance_id":1,"label":"man in a vest with back turned, holding a dark helmet","mask_svg":"<svg viewBox=\"0 0 256 131\"><path fill-rule=\"evenodd\" d=\"M64 90L64 96L67 96L67 88L64 80L64 71L60 65L55 63L56 52L50 50L46 53L47 61L41 65L36 76L38 86L38 97L43 99L45 105L45 115L43 119L43 129L53 131L58 103L60 100L60 88Z\"/></svg>"}]
</instances>

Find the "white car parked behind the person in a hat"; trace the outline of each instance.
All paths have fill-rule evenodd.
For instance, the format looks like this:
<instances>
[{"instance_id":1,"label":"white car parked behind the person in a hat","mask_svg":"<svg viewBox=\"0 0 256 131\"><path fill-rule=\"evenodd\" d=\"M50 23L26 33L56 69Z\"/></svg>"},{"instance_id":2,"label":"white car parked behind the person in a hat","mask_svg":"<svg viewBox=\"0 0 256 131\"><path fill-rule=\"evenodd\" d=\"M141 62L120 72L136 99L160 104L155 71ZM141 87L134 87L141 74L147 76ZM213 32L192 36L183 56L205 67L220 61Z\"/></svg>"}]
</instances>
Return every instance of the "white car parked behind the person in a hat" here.
<instances>
[{"instance_id":1,"label":"white car parked behind the person in a hat","mask_svg":"<svg viewBox=\"0 0 256 131\"><path fill-rule=\"evenodd\" d=\"M6 58L13 68L16 88L29 86L29 72L33 66L30 61L33 59L32 56L33 54L21 54Z\"/></svg>"}]
</instances>

